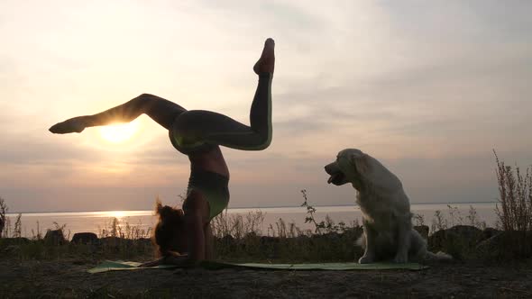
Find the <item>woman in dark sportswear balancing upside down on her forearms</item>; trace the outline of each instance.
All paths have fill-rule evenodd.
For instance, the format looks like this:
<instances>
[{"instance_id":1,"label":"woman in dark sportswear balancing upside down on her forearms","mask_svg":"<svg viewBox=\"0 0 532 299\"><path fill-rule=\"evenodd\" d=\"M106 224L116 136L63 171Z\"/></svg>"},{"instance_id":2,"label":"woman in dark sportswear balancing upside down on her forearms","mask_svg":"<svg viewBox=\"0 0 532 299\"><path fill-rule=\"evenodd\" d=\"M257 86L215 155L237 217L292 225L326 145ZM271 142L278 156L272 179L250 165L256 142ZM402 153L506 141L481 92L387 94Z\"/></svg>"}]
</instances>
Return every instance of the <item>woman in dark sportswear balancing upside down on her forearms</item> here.
<instances>
[{"instance_id":1,"label":"woman in dark sportswear balancing upside down on her forearms","mask_svg":"<svg viewBox=\"0 0 532 299\"><path fill-rule=\"evenodd\" d=\"M142 113L169 131L172 145L190 160L188 194L182 209L157 203L159 222L154 241L160 263L193 265L211 258L210 221L229 203L229 170L219 146L232 149L261 150L271 142L271 80L275 65L275 43L264 43L261 58L253 70L259 76L250 112L250 126L210 111L191 110L156 95L139 95L133 100L103 113L78 116L50 128L52 133L81 132L87 127L112 122L131 122ZM180 254L188 252L188 254Z\"/></svg>"}]
</instances>

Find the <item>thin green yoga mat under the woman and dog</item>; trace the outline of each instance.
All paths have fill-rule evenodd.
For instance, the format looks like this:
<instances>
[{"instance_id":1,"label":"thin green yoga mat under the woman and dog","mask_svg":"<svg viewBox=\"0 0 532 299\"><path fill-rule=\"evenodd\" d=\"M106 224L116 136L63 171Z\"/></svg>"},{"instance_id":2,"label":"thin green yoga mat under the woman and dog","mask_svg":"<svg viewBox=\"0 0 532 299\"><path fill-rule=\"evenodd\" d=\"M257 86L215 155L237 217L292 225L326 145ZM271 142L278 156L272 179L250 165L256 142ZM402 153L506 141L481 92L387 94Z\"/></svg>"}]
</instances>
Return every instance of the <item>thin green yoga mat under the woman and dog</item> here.
<instances>
[{"instance_id":1,"label":"thin green yoga mat under the woman and dog","mask_svg":"<svg viewBox=\"0 0 532 299\"><path fill-rule=\"evenodd\" d=\"M107 271L119 270L139 270L139 269L173 269L178 266L161 265L157 267L138 267L141 263L127 262L127 261L110 261L107 260L102 264L88 269L88 273L101 273ZM315 263L315 264L234 264L223 263L215 261L204 261L200 267L217 270L224 268L252 268L252 269L270 269L270 270L329 270L329 271L346 271L346 270L423 270L427 266L419 265L417 263L395 264L395 263L374 263L374 264L359 264L359 263Z\"/></svg>"}]
</instances>

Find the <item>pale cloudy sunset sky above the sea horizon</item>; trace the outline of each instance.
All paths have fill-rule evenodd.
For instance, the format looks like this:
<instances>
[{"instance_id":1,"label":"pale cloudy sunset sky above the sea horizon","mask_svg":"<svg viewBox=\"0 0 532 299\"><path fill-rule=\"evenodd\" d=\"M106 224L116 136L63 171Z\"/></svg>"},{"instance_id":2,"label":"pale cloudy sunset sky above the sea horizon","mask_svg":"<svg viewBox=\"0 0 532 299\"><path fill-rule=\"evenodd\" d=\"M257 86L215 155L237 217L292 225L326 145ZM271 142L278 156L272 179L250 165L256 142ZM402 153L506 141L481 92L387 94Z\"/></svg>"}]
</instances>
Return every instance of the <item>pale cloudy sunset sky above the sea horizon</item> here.
<instances>
[{"instance_id":1,"label":"pale cloudy sunset sky above the sea horizon","mask_svg":"<svg viewBox=\"0 0 532 299\"><path fill-rule=\"evenodd\" d=\"M147 116L119 143L48 128L142 93L248 123L276 41L273 141L223 149L230 207L353 204L323 167L362 149L411 203L495 201L492 149L532 164L532 1L0 2L0 196L13 212L179 203L188 159Z\"/></svg>"}]
</instances>

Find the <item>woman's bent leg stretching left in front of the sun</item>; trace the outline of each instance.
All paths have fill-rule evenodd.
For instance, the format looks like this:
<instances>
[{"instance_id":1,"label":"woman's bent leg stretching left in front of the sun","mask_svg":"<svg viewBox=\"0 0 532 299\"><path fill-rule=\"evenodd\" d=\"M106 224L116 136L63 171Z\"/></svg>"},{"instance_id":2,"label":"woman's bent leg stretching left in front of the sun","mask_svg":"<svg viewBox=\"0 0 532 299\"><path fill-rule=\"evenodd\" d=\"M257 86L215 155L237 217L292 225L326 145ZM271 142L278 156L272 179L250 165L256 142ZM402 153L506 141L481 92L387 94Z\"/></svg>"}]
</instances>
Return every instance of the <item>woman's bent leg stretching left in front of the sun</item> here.
<instances>
[{"instance_id":1,"label":"woman's bent leg stretching left in front of the sun","mask_svg":"<svg viewBox=\"0 0 532 299\"><path fill-rule=\"evenodd\" d=\"M81 132L88 127L115 122L131 122L142 113L147 114L153 121L170 130L176 117L185 111L187 110L179 104L172 103L159 96L142 94L105 112L78 116L65 122L57 123L50 128L50 131L58 134Z\"/></svg>"}]
</instances>

